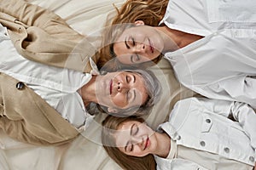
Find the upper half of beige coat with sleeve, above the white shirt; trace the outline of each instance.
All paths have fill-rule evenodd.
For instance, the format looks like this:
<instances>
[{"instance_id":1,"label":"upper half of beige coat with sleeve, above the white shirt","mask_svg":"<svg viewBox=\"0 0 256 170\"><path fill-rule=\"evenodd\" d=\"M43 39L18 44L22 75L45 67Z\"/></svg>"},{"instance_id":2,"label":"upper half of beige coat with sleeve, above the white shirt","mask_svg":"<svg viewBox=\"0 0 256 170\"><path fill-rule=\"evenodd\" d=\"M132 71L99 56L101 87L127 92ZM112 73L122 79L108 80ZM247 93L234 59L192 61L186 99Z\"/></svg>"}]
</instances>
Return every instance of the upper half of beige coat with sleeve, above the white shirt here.
<instances>
[{"instance_id":1,"label":"upper half of beige coat with sleeve, above the white shirt","mask_svg":"<svg viewBox=\"0 0 256 170\"><path fill-rule=\"evenodd\" d=\"M26 59L90 72L96 48L53 12L21 0L0 0L0 22ZM96 59L94 59L96 62Z\"/></svg>"}]
</instances>

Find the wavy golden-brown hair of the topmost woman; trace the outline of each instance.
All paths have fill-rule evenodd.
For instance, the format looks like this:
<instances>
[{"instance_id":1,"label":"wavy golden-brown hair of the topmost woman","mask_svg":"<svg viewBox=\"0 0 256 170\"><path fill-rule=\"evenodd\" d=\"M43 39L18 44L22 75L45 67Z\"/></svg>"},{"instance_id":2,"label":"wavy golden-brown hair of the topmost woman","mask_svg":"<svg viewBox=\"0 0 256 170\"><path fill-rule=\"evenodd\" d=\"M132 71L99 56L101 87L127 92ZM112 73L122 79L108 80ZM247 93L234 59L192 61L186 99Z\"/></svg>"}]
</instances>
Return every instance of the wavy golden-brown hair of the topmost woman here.
<instances>
[{"instance_id":1,"label":"wavy golden-brown hair of the topmost woman","mask_svg":"<svg viewBox=\"0 0 256 170\"><path fill-rule=\"evenodd\" d=\"M103 32L102 48L100 49L97 60L97 65L102 68L109 60L115 58L113 53L113 42L119 37L120 33L123 32L129 26L121 26L121 29L117 29L116 25L125 23L134 23L136 20L143 20L147 26L158 26L160 20L162 20L166 13L166 8L169 0L127 0L121 8L116 8L117 14L113 18L111 28L106 29ZM131 24L131 26L134 26ZM158 63L160 57L153 60L154 63ZM118 60L118 59L115 59ZM143 64L143 66L150 66L150 64ZM122 65L121 65L122 66ZM136 65L135 65L136 66ZM114 71L120 67L118 61L113 61L111 65L108 65L110 71Z\"/></svg>"}]
</instances>

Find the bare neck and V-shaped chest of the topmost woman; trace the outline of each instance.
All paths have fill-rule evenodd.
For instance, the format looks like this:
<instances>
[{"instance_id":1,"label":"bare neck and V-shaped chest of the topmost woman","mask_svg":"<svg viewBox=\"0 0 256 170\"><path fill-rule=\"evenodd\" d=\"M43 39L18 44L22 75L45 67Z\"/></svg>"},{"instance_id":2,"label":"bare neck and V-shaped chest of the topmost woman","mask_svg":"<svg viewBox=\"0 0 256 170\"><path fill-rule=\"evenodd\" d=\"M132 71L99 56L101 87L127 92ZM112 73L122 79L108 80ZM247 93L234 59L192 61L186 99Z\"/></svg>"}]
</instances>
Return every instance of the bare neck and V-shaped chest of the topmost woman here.
<instances>
[{"instance_id":1,"label":"bare neck and V-shaped chest of the topmost woman","mask_svg":"<svg viewBox=\"0 0 256 170\"><path fill-rule=\"evenodd\" d=\"M173 30L167 26L159 26L157 29L164 34L163 39L165 41L165 48L163 52L175 51L177 48L183 48L202 38L201 36L195 34Z\"/></svg>"}]
</instances>

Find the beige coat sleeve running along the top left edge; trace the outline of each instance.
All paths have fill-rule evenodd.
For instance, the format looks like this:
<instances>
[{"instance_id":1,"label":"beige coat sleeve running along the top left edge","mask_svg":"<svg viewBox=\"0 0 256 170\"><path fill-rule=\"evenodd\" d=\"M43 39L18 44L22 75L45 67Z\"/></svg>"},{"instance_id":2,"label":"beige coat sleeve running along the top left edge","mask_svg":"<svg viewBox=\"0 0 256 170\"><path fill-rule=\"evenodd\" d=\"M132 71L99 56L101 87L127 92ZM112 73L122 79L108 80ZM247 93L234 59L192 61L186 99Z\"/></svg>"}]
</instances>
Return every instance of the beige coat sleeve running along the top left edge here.
<instances>
[{"instance_id":1,"label":"beige coat sleeve running along the top left edge","mask_svg":"<svg viewBox=\"0 0 256 170\"><path fill-rule=\"evenodd\" d=\"M0 0L0 11L14 17L26 27L35 26L55 37L80 41L84 36L74 31L66 21L52 11L23 0Z\"/></svg>"}]
</instances>

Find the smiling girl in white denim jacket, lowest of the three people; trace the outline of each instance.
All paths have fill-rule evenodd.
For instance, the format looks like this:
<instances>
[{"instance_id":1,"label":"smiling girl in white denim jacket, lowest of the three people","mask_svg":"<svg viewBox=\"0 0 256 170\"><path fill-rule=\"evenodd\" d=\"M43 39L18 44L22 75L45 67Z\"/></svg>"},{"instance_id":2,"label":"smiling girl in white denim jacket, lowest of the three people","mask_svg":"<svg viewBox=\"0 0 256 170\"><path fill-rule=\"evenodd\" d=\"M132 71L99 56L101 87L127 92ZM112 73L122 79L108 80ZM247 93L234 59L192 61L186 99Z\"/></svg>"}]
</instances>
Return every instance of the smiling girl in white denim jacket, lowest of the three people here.
<instances>
[{"instance_id":1,"label":"smiling girl in white denim jacket, lowest of the three people","mask_svg":"<svg viewBox=\"0 0 256 170\"><path fill-rule=\"evenodd\" d=\"M183 99L157 132L142 118L108 116L102 123L102 144L127 170L256 169L255 121L246 104Z\"/></svg>"}]
</instances>

